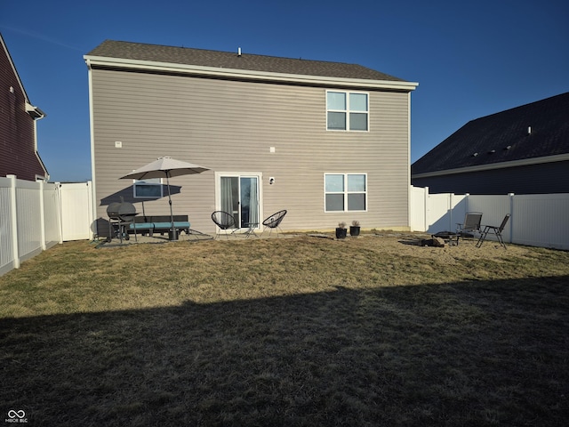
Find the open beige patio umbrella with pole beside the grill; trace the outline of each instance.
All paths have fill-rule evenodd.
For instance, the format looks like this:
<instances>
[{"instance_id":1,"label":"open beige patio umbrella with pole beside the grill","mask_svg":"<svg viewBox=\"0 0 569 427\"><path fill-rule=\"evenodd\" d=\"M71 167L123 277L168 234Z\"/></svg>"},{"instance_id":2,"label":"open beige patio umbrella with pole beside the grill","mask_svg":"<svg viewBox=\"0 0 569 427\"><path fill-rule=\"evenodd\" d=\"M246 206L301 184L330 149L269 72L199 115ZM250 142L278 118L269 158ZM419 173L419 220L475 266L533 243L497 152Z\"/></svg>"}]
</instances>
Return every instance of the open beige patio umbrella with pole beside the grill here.
<instances>
[{"instance_id":1,"label":"open beige patio umbrella with pole beside the grill","mask_svg":"<svg viewBox=\"0 0 569 427\"><path fill-rule=\"evenodd\" d=\"M168 189L168 204L170 205L170 220L172 221L172 233L170 238L178 240L177 233L174 230L174 214L172 213L172 197L170 195L170 178L173 176L191 175L194 173L202 173L208 171L207 167L194 165L188 162L182 162L172 157L158 157L154 162L148 163L139 169L121 176L121 180L144 180L149 178L166 177L166 188Z\"/></svg>"}]
</instances>

